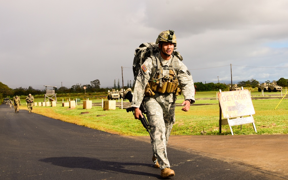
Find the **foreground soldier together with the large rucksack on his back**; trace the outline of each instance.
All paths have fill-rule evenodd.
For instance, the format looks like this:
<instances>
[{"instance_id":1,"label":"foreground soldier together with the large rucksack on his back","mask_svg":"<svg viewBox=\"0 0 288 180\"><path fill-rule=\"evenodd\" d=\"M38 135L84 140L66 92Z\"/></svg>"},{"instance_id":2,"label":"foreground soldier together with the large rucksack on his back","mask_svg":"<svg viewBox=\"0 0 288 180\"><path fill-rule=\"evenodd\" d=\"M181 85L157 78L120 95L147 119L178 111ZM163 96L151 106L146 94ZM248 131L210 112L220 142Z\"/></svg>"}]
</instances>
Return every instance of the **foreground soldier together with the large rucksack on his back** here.
<instances>
[{"instance_id":1,"label":"foreground soldier together with the large rucksack on his back","mask_svg":"<svg viewBox=\"0 0 288 180\"><path fill-rule=\"evenodd\" d=\"M152 161L156 168L161 169L160 175L163 178L175 175L175 172L170 169L166 145L175 123L176 96L181 93L184 95L185 100L182 103L184 107L181 109L183 111L188 111L190 105L195 102L193 79L190 71L181 62L181 55L175 51L176 45L174 31L163 31L156 39L156 43L143 43L136 49L133 62L134 117L143 118L139 107L144 104L153 137L151 138Z\"/></svg>"}]
</instances>

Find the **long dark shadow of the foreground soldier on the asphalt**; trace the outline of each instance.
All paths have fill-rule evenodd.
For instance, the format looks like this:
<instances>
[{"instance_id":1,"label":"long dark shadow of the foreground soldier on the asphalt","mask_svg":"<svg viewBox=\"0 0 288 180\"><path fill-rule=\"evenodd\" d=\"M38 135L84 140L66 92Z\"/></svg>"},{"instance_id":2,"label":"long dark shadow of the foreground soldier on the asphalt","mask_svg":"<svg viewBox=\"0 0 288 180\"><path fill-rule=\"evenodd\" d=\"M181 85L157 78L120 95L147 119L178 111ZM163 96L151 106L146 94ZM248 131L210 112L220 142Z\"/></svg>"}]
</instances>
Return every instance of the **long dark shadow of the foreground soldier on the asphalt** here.
<instances>
[{"instance_id":1,"label":"long dark shadow of the foreground soldier on the asphalt","mask_svg":"<svg viewBox=\"0 0 288 180\"><path fill-rule=\"evenodd\" d=\"M84 168L97 171L106 171L110 173L119 172L119 173L145 175L159 178L158 174L134 171L131 170L132 168L129 168L129 166L131 167L139 166L139 169L141 169L141 166L151 167L151 164L144 164L144 163L101 161L96 158L87 158L87 157L53 157L53 158L40 159L39 161L67 168ZM133 169L135 169L135 167Z\"/></svg>"}]
</instances>

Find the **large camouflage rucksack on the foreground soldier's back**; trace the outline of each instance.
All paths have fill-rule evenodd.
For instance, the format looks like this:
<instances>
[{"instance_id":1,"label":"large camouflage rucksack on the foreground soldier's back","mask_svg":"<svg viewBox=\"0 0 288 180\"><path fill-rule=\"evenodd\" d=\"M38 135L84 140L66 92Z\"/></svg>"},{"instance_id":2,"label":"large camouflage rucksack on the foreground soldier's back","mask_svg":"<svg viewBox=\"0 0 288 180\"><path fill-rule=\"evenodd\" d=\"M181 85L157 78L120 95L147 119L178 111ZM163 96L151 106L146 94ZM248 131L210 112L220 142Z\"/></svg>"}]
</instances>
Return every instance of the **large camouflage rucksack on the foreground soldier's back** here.
<instances>
[{"instance_id":1,"label":"large camouflage rucksack on the foreground soldier's back","mask_svg":"<svg viewBox=\"0 0 288 180\"><path fill-rule=\"evenodd\" d=\"M138 48L135 49L135 52L134 52L135 57L133 60L133 67L132 67L135 82L136 82L139 70L141 68L141 65L145 62L145 60L148 57L152 58L152 62L156 62L155 54L158 52L160 52L160 48L158 47L158 44L155 44L154 42L143 43ZM176 57L178 57L180 61L183 60L180 53L178 51L175 51L175 49L173 50L172 54L175 55ZM156 63L154 63L154 64L156 64ZM156 70L157 70L157 66L152 69L151 74L154 74Z\"/></svg>"}]
</instances>

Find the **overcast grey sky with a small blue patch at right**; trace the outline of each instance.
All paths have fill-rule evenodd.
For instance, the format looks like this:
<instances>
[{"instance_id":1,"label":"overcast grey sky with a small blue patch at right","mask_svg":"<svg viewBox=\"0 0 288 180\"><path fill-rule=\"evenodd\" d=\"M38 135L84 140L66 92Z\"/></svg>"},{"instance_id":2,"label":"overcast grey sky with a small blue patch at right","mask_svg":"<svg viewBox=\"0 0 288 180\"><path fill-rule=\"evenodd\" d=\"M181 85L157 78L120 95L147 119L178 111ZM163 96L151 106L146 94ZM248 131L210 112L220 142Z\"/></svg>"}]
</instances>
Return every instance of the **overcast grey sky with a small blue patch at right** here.
<instances>
[{"instance_id":1,"label":"overcast grey sky with a small blue patch at right","mask_svg":"<svg viewBox=\"0 0 288 180\"><path fill-rule=\"evenodd\" d=\"M134 50L174 30L194 82L288 78L288 1L0 0L0 81L10 88L133 81ZM122 86L122 82L120 84Z\"/></svg>"}]
</instances>

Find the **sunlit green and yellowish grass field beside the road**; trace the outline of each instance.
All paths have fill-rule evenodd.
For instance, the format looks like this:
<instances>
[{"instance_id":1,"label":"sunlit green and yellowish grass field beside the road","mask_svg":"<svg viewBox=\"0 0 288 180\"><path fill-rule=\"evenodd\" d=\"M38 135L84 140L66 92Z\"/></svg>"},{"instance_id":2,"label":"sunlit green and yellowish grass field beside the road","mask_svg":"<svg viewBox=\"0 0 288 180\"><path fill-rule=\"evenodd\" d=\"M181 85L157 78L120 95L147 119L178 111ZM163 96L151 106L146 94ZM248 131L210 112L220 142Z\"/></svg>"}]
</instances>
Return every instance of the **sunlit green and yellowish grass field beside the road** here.
<instances>
[{"instance_id":1,"label":"sunlit green and yellowish grass field beside the road","mask_svg":"<svg viewBox=\"0 0 288 180\"><path fill-rule=\"evenodd\" d=\"M196 103L190 107L188 112L183 112L181 107L176 107L176 122L171 135L220 135L219 104L216 99L216 93L213 91L196 93ZM252 124L246 124L242 125L242 129L240 125L233 126L232 129L235 135L288 134L288 99L283 99L277 109L274 110L281 100L281 93L267 92L264 95L264 97L273 96L275 99L252 99L255 109L253 117L257 133L255 133ZM251 96L261 97L262 95L261 92L251 91ZM178 98L181 98L181 96ZM197 98L206 99L197 100ZM24 100L21 101L24 104ZM177 100L177 103L182 103L182 101L181 99ZM35 99L35 102L43 102L43 99ZM109 133L133 136L148 135L141 122L135 120L132 112L127 113L125 109L116 108L116 110L103 111L100 106L93 106L92 109L88 110L88 114L80 115L81 112L86 112L82 108L82 104L76 106L75 109L69 109L62 107L62 99L58 99L58 102L61 103L57 103L56 107L34 107L33 112ZM64 102L67 102L67 100ZM101 100L93 100L92 102L101 102ZM197 104L209 105L197 106ZM26 106L21 106L20 108L27 109ZM222 126L221 135L231 135L228 125Z\"/></svg>"}]
</instances>

